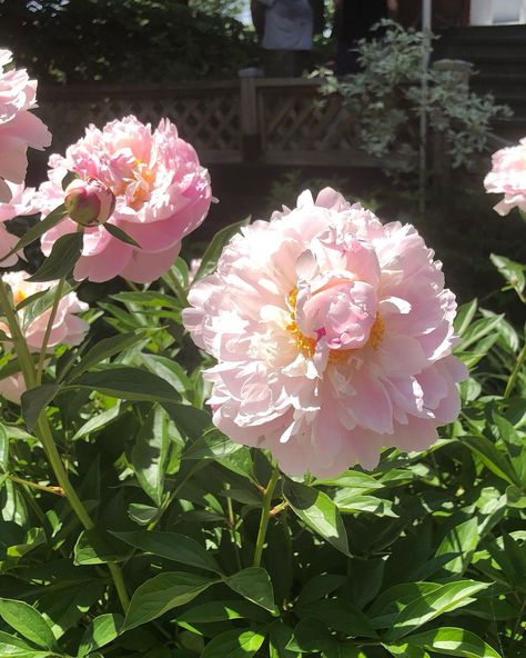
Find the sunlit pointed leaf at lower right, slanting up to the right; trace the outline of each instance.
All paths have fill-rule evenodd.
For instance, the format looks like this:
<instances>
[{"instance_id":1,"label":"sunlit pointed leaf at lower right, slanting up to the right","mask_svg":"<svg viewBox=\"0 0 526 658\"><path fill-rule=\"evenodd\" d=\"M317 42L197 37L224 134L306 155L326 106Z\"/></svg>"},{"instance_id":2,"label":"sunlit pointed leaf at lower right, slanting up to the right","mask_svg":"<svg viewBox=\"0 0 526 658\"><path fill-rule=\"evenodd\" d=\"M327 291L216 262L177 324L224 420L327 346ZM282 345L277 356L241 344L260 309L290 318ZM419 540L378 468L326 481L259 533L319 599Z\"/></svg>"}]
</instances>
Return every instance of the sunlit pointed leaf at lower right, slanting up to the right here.
<instances>
[{"instance_id":1,"label":"sunlit pointed leaf at lower right, slanting up to the right","mask_svg":"<svg viewBox=\"0 0 526 658\"><path fill-rule=\"evenodd\" d=\"M489 586L489 582L474 580L456 580L441 585L406 606L394 619L393 628L384 637L388 641L398 640L427 621L466 606L472 602L471 597L474 594Z\"/></svg>"}]
</instances>

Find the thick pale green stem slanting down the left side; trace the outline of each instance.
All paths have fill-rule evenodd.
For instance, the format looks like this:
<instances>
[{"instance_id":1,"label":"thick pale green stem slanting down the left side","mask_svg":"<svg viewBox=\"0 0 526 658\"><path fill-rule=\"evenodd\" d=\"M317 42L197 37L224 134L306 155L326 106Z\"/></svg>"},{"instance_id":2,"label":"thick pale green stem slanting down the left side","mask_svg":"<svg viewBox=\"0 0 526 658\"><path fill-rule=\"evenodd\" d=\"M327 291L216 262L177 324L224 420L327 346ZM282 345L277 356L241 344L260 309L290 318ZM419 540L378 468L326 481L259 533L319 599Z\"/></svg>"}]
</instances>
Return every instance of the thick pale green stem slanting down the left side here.
<instances>
[{"instance_id":1,"label":"thick pale green stem slanting down the left side","mask_svg":"<svg viewBox=\"0 0 526 658\"><path fill-rule=\"evenodd\" d=\"M20 367L22 369L26 387L28 389L34 388L37 386L37 378L33 368L33 361L31 359L31 353L28 349L28 343L26 342L26 339L20 329L20 325L18 323L14 309L11 306L6 283L1 280L0 308L3 310L6 319L8 321L8 327L11 333L11 340L13 341L14 350L17 352ZM53 472L57 477L59 486L62 488L64 496L68 498L68 501L71 505L74 514L77 515L78 519L87 530L93 529L94 524L91 520L91 517L88 514L85 507L83 506L81 499L79 498L73 485L70 482L68 473L64 469L59 451L57 449L57 445L53 439L53 435L51 432L51 428L49 426L48 418L45 416L45 411L43 411L40 415L36 430L37 437L40 439L43 446L43 449L51 465L51 468L53 469ZM110 569L110 574L113 578L113 582L115 585L117 594L121 601L122 608L125 611L130 604L130 599L124 587L121 569L118 565L114 564L109 564L108 568Z\"/></svg>"}]
</instances>

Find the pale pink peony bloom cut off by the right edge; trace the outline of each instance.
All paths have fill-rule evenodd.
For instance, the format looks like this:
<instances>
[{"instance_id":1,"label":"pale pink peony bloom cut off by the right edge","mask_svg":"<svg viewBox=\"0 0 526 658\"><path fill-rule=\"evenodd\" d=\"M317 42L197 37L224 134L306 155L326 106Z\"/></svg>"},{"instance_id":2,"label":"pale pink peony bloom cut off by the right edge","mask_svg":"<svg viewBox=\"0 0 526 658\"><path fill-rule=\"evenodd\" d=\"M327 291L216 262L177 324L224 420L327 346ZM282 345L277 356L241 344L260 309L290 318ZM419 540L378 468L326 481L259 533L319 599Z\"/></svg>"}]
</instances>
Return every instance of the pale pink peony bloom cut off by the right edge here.
<instances>
[{"instance_id":1,"label":"pale pink peony bloom cut off by the right edge","mask_svg":"<svg viewBox=\"0 0 526 658\"><path fill-rule=\"evenodd\" d=\"M498 215L507 215L513 208L526 212L526 137L517 146L494 153L492 164L484 179L486 192L504 193L494 209Z\"/></svg>"}]
</instances>

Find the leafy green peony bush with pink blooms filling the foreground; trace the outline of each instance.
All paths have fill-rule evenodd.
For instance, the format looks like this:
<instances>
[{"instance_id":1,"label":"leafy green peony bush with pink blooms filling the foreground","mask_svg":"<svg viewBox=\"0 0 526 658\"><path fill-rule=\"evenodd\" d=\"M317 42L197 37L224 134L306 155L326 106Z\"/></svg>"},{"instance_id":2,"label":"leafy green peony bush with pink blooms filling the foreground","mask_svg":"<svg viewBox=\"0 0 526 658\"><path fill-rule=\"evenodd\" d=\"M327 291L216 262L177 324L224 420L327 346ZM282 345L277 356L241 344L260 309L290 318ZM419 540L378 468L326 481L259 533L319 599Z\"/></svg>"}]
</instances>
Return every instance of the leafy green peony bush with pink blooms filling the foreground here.
<instances>
[{"instance_id":1,"label":"leafy green peony bush with pink blooms filling the foreground","mask_svg":"<svg viewBox=\"0 0 526 658\"><path fill-rule=\"evenodd\" d=\"M413 226L305 191L189 268L169 120L6 186L0 656L520 658L524 347Z\"/></svg>"}]
</instances>

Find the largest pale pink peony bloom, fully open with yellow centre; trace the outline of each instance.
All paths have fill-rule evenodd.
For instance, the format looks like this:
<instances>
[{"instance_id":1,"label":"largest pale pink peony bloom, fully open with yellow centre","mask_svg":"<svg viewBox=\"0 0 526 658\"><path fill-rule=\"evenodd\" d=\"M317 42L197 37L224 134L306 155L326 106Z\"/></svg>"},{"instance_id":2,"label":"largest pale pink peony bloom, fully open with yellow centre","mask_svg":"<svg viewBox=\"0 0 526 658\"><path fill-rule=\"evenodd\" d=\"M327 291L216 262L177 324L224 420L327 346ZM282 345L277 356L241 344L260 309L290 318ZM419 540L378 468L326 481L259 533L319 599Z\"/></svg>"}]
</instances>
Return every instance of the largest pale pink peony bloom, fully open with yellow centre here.
<instances>
[{"instance_id":1,"label":"largest pale pink peony bloom, fully open with yellow centre","mask_svg":"<svg viewBox=\"0 0 526 658\"><path fill-rule=\"evenodd\" d=\"M190 291L184 323L218 359L214 423L291 475L335 476L383 447L429 447L459 410L455 297L411 225L326 188L256 221Z\"/></svg>"}]
</instances>

